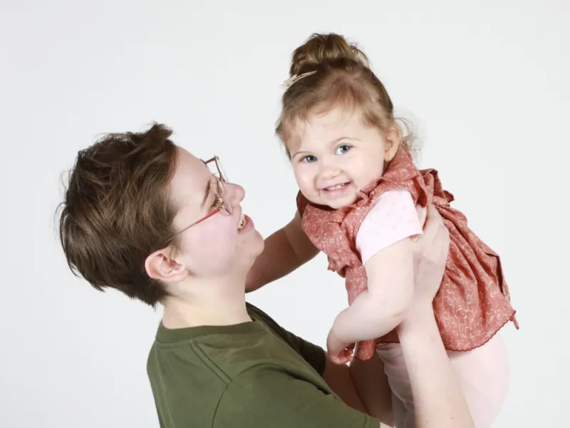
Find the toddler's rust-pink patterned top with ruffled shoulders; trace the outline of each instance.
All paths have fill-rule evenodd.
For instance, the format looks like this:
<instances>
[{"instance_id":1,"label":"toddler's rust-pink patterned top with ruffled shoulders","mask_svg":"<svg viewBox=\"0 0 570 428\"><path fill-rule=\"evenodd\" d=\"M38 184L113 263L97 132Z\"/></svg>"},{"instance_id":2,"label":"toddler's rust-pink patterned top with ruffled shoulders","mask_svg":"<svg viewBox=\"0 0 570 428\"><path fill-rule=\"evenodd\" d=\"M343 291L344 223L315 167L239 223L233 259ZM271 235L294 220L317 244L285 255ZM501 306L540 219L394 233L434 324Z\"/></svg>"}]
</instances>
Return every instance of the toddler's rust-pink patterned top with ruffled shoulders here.
<instances>
[{"instance_id":1,"label":"toddler's rust-pink patterned top with ruffled shoulders","mask_svg":"<svg viewBox=\"0 0 570 428\"><path fill-rule=\"evenodd\" d=\"M297 195L302 227L318 250L326 253L328 270L345 278L348 304L366 290L367 277L356 235L375 200L387 190L407 190L414 203L433 203L450 232L450 250L440 290L433 302L437 325L447 350L468 351L484 345L509 320L514 309L504 281L499 255L467 227L467 219L451 208L453 195L443 190L437 170L418 170L408 148L403 146L384 175L361 191L352 205L333 210L310 203ZM361 342L356 353L368 360L378 343L396 343L395 330L376 340Z\"/></svg>"}]
</instances>

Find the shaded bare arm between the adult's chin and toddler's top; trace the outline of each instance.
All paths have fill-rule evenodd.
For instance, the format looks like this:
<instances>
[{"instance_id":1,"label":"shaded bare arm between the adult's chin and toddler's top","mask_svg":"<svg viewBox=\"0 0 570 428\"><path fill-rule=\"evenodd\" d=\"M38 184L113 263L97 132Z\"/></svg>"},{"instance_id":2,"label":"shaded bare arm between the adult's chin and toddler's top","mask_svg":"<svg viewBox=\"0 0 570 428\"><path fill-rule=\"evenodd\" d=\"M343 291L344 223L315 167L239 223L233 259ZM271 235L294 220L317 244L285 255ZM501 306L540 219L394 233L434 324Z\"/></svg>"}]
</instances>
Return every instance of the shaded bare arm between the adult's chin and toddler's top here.
<instances>
[{"instance_id":1,"label":"shaded bare arm between the adult's chin and toddler's top","mask_svg":"<svg viewBox=\"0 0 570 428\"><path fill-rule=\"evenodd\" d=\"M263 252L247 274L246 291L257 290L279 280L317 254L318 250L301 228L301 217L296 213L284 228L266 238Z\"/></svg>"}]
</instances>

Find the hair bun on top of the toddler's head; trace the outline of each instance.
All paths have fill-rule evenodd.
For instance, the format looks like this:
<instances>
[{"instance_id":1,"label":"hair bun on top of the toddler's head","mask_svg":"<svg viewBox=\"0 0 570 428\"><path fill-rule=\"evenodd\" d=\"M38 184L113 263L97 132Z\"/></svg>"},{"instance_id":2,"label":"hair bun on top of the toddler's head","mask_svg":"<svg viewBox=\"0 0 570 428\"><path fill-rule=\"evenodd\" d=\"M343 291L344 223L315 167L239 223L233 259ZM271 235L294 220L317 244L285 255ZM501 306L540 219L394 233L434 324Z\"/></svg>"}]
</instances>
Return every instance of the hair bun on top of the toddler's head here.
<instances>
[{"instance_id":1,"label":"hair bun on top of the toddler's head","mask_svg":"<svg viewBox=\"0 0 570 428\"><path fill-rule=\"evenodd\" d=\"M313 34L293 52L291 59L291 76L307 73L320 66L331 66L346 61L360 63L368 67L368 58L354 44L349 44L339 34Z\"/></svg>"}]
</instances>

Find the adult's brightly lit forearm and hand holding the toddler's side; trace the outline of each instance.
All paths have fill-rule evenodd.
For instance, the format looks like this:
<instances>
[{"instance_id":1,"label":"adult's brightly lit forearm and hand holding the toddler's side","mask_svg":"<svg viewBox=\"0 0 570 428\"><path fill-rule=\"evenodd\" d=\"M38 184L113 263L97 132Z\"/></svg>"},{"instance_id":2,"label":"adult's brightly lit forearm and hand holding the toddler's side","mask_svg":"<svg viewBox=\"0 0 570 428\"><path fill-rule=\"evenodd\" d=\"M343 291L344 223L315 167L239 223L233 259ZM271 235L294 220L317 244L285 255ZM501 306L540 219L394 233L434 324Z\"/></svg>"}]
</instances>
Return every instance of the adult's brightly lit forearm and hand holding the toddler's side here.
<instances>
[{"instance_id":1,"label":"adult's brightly lit forearm and hand holding the toddler's side","mask_svg":"<svg viewBox=\"0 0 570 428\"><path fill-rule=\"evenodd\" d=\"M418 428L475 427L432 309L445 272L449 243L449 233L440 214L430 206L424 234L413 244L413 302L397 328L410 376Z\"/></svg>"}]
</instances>

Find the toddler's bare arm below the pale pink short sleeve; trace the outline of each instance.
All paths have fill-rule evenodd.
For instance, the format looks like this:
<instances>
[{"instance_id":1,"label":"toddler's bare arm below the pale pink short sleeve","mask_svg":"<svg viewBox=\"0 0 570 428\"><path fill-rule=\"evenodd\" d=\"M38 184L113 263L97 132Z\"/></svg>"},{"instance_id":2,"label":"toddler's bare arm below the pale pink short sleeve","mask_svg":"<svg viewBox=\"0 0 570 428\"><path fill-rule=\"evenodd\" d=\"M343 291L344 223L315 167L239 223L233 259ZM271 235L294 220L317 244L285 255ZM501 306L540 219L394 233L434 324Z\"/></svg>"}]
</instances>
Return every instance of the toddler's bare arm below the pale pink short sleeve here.
<instances>
[{"instance_id":1,"label":"toddler's bare arm below the pale pink short sleeve","mask_svg":"<svg viewBox=\"0 0 570 428\"><path fill-rule=\"evenodd\" d=\"M368 290L343 310L331 328L331 355L338 347L371 340L393 330L403 320L413 297L413 248L410 238L374 255L365 264ZM340 350L339 350L340 351Z\"/></svg>"}]
</instances>

